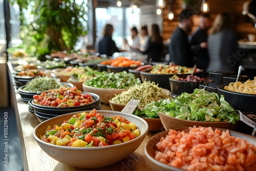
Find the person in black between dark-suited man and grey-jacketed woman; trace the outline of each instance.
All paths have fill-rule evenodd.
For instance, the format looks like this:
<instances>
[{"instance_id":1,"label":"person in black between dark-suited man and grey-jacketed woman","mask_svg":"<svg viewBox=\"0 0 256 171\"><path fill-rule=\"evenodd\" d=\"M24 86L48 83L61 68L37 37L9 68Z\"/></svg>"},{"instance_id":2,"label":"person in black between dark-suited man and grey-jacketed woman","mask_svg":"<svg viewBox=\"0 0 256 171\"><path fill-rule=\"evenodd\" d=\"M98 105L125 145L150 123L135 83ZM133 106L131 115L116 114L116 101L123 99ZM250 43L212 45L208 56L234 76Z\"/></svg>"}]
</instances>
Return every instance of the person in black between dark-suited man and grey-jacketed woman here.
<instances>
[{"instance_id":1,"label":"person in black between dark-suited man and grey-jacketed woman","mask_svg":"<svg viewBox=\"0 0 256 171\"><path fill-rule=\"evenodd\" d=\"M198 29L188 36L188 42L193 52L194 60L199 69L204 72L209 63L209 55L207 49L208 30L211 27L211 18L208 13L200 16Z\"/></svg>"}]
</instances>

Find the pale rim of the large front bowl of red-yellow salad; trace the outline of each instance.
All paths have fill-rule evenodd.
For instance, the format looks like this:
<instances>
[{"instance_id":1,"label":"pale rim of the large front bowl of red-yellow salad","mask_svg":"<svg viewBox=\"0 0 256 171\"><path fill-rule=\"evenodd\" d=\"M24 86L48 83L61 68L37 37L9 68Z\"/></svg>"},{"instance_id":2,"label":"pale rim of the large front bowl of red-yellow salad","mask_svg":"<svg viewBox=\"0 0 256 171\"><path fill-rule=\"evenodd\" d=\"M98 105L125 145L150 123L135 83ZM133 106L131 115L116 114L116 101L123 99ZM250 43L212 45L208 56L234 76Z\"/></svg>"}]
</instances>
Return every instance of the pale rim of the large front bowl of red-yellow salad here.
<instances>
[{"instance_id":1,"label":"pale rim of the large front bowl of red-yellow salad","mask_svg":"<svg viewBox=\"0 0 256 171\"><path fill-rule=\"evenodd\" d=\"M56 116L56 117L68 116L68 115L71 115L71 114L74 115L74 113L81 113L81 112L90 112L90 111L72 112L72 113L67 113L67 114L64 114L64 115L59 115L59 116ZM126 145L126 144L130 144L130 143L133 143L135 140L139 140L140 138L146 136L146 134L147 134L147 132L148 132L148 129L149 129L148 123L147 123L144 119L142 119L142 118L140 118L140 117L138 117L138 116L136 116L136 115L131 115L131 114L127 114L127 113L123 113L123 112L117 112L117 111L107 111L107 110L97 110L97 112L98 112L98 113L111 113L111 114L117 114L117 115L118 115L118 114L122 114L122 115L124 115L124 116L134 117L134 118L136 118L137 120L139 120L139 121L141 121L141 122L144 123L144 125L145 125L145 131L144 131L144 133L140 134L139 137L137 137L137 138L135 138L135 139L133 139L133 140L127 141L127 142L120 143L120 144L107 145L107 146L96 146L96 147L88 147L88 148L72 147L72 146L60 146L60 145L54 145L54 144L50 144L50 143L47 143L47 142L45 142L45 141L42 141L42 140L40 140L40 139L36 136L36 130L38 129L38 127L40 127L42 124L45 124L46 122L49 122L49 121L51 121L51 120L53 120L53 119L56 118L56 117L53 117L53 118L50 118L50 119L48 119L48 120L46 120L46 121L44 121L44 122L39 123L39 124L34 128L34 130L33 130L33 137L34 137L34 139L37 141L37 143L41 143L41 144L44 144L44 145L47 145L47 146L53 147L53 148L67 149L67 150L70 149L70 150L75 150L75 151L80 151L80 150L86 149L86 150L88 150L88 151L91 151L91 150L95 150L95 149L115 148L115 147L117 147L117 146L123 146L123 145ZM102 116L103 116L103 114L102 114ZM136 126L137 126L137 125L136 125ZM141 133L141 132L140 132L140 133Z\"/></svg>"}]
</instances>

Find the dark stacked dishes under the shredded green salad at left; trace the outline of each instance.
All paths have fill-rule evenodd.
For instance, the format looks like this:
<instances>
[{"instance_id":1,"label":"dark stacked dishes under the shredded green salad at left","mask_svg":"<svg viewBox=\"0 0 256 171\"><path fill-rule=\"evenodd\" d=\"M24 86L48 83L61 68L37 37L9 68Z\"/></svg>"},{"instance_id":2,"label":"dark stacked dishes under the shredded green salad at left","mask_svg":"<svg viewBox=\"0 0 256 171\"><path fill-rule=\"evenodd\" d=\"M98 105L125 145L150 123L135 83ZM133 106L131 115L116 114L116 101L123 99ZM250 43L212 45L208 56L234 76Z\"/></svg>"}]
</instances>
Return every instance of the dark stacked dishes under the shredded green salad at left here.
<instances>
[{"instance_id":1,"label":"dark stacked dishes under the shredded green salad at left","mask_svg":"<svg viewBox=\"0 0 256 171\"><path fill-rule=\"evenodd\" d=\"M60 82L63 85L66 85L67 87L71 87L73 88L74 85L72 83L69 82ZM23 90L26 87L26 85L21 86L17 89L18 94L20 95L20 99L24 102L28 102L30 99L33 99L33 96L35 94L41 94L41 92L29 92L29 91L25 91Z\"/></svg>"}]
</instances>

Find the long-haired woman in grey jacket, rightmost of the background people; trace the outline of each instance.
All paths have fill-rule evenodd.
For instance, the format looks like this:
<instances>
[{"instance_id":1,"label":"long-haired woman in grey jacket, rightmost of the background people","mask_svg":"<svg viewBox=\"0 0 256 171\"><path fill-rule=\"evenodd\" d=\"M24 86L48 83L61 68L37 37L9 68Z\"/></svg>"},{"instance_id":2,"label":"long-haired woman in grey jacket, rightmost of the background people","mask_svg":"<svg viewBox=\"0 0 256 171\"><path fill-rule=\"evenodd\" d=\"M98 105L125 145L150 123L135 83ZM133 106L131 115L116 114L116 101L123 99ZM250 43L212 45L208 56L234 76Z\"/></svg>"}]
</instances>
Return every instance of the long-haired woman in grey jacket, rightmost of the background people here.
<instances>
[{"instance_id":1,"label":"long-haired woman in grey jacket, rightmost of the background people","mask_svg":"<svg viewBox=\"0 0 256 171\"><path fill-rule=\"evenodd\" d=\"M238 53L238 39L232 31L231 17L228 13L219 13L208 36L208 53L210 57L207 72L236 71L235 55Z\"/></svg>"}]
</instances>

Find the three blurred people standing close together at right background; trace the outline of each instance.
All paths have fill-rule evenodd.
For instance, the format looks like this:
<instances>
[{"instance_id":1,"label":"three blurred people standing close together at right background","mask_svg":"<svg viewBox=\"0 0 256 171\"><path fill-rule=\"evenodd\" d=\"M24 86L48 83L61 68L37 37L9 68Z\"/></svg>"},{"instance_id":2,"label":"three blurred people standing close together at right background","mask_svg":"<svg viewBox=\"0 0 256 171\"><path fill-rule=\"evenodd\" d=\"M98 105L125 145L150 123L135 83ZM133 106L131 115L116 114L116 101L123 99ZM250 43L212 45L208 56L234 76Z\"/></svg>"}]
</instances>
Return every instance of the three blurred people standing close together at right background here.
<instances>
[{"instance_id":1,"label":"three blurred people standing close together at right background","mask_svg":"<svg viewBox=\"0 0 256 171\"><path fill-rule=\"evenodd\" d=\"M231 28L230 15L218 14L211 27L210 15L202 14L198 29L188 35L193 26L192 16L189 10L181 12L179 25L170 37L170 60L187 67L197 64L206 73L236 70L237 62L232 62L232 58L238 53L238 42Z\"/></svg>"}]
</instances>

